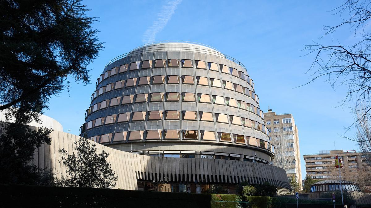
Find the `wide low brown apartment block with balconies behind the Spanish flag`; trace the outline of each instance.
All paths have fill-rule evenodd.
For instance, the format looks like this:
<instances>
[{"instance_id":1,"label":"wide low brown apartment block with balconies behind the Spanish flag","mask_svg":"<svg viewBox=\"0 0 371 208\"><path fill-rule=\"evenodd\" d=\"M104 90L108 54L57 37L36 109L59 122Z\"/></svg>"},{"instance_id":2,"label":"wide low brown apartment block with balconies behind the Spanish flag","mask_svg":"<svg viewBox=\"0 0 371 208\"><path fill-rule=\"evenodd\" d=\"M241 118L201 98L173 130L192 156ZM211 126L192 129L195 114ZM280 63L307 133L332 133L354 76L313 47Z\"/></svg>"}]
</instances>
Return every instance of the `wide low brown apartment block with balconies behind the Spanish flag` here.
<instances>
[{"instance_id":1,"label":"wide low brown apartment block with balconies behind the Spanish flag","mask_svg":"<svg viewBox=\"0 0 371 208\"><path fill-rule=\"evenodd\" d=\"M318 154L304 155L306 174L316 179L331 178L335 174L331 171L335 171L336 155L339 155L344 168L349 169L349 172L354 172L354 170L366 165L366 159L362 152L356 152L355 150L321 150L318 151Z\"/></svg>"}]
</instances>

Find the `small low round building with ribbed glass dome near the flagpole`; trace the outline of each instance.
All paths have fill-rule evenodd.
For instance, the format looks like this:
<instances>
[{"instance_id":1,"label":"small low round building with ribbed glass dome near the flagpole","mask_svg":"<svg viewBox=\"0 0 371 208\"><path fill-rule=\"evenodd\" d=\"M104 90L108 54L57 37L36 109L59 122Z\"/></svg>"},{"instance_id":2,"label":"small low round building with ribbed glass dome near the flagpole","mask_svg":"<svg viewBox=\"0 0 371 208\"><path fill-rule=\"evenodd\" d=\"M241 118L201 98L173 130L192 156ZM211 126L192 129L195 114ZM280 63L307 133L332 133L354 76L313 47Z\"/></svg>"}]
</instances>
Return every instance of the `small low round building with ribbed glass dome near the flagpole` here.
<instances>
[{"instance_id":1,"label":"small low round building with ribbed glass dome near the flagpole","mask_svg":"<svg viewBox=\"0 0 371 208\"><path fill-rule=\"evenodd\" d=\"M361 189L359 188L358 184L352 181L341 180L341 187L343 191L361 192ZM312 184L311 186L311 193L336 191L336 190L340 190L340 180L319 181L319 182Z\"/></svg>"}]
</instances>

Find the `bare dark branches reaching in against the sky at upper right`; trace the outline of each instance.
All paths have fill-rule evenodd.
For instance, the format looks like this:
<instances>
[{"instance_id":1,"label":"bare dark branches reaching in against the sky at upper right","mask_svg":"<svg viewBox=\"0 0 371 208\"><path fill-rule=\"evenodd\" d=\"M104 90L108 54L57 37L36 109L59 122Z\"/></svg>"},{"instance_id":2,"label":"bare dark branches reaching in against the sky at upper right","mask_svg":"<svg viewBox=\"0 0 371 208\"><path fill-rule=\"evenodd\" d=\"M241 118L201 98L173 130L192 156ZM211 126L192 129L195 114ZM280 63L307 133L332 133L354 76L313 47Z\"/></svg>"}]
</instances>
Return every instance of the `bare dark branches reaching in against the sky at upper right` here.
<instances>
[{"instance_id":1,"label":"bare dark branches reaching in against the sky at upper right","mask_svg":"<svg viewBox=\"0 0 371 208\"><path fill-rule=\"evenodd\" d=\"M308 83L326 77L333 88L347 86L348 92L341 105L351 104L352 111L361 115L358 120L362 120L371 116L371 33L367 30L371 3L369 0L347 0L332 12L342 15L342 22L336 26L325 26L325 34L321 38L331 35L332 39L336 30L348 25L354 31L356 41L350 46L340 42L329 46L320 43L306 46L304 50L308 50L308 54L315 54ZM354 124L357 125L357 122Z\"/></svg>"}]
</instances>

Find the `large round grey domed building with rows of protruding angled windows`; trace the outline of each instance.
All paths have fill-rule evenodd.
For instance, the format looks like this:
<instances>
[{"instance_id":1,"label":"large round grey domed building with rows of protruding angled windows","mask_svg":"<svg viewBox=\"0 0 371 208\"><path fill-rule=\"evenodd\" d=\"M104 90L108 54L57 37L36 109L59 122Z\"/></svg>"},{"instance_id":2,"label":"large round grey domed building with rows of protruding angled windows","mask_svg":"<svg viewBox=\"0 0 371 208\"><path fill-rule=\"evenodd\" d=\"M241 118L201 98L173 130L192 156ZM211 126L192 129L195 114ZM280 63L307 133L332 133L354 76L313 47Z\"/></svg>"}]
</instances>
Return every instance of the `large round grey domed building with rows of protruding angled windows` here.
<instances>
[{"instance_id":1,"label":"large round grey domed building with rows of protruding angled windows","mask_svg":"<svg viewBox=\"0 0 371 208\"><path fill-rule=\"evenodd\" d=\"M111 60L96 82L81 136L117 150L167 161L171 167L158 173L159 177L156 173L152 182L271 182L290 189L285 171L269 165L274 147L246 68L202 44L153 43ZM190 160L173 164L170 158ZM212 160L200 164L193 158ZM214 167L215 159L220 159L220 167ZM266 166L253 170L257 164L251 163L253 166L243 171L201 174L208 168L225 168L226 161L253 161ZM179 166L198 174L177 175L173 169ZM277 170L269 173L266 167ZM158 168L161 172L163 167ZM247 172L256 176L261 172L265 177L249 177ZM147 173L138 175L141 181L150 178ZM273 175L279 176L279 181L269 181Z\"/></svg>"}]
</instances>

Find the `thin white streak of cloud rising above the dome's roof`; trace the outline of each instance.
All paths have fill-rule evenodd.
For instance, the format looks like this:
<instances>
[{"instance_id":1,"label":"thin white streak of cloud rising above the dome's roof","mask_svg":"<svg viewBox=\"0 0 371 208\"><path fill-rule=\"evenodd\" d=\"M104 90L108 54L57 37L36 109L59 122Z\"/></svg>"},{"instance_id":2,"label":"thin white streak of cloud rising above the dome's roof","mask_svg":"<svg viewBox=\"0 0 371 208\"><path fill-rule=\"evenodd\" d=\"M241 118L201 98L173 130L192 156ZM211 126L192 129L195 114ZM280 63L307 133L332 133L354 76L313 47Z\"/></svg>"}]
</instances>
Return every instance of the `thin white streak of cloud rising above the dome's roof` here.
<instances>
[{"instance_id":1,"label":"thin white streak of cloud rising above the dome's roof","mask_svg":"<svg viewBox=\"0 0 371 208\"><path fill-rule=\"evenodd\" d=\"M149 27L143 34L143 43L152 43L155 41L156 34L159 33L173 16L175 9L182 0L169 0L161 7L161 11L157 13L157 19L153 21L152 26Z\"/></svg>"}]
</instances>

